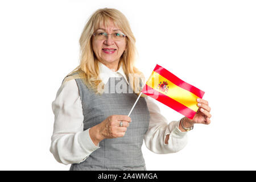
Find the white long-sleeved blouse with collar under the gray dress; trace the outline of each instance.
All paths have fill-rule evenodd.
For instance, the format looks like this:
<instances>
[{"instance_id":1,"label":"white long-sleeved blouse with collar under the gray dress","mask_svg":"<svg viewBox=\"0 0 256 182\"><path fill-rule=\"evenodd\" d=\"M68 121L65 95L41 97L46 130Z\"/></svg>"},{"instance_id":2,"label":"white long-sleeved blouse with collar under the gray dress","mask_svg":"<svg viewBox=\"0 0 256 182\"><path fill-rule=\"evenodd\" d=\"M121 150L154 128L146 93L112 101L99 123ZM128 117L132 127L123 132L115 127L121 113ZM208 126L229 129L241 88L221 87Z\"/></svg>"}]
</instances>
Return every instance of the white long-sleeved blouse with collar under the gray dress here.
<instances>
[{"instance_id":1,"label":"white long-sleeved blouse with collar under the gray dress","mask_svg":"<svg viewBox=\"0 0 256 182\"><path fill-rule=\"evenodd\" d=\"M106 84L109 77L124 77L127 81L122 65L114 72L104 64L98 62L100 78ZM129 84L129 82L127 81ZM146 147L156 154L177 152L187 144L187 132L179 130L180 121L168 122L162 114L155 100L146 97L150 112L150 123L144 135ZM50 151L59 163L81 163L98 148L90 139L89 129L84 131L84 115L79 90L75 80L63 82L52 102L55 115ZM128 128L129 129L129 128ZM166 135L170 134L168 144L164 143Z\"/></svg>"}]
</instances>

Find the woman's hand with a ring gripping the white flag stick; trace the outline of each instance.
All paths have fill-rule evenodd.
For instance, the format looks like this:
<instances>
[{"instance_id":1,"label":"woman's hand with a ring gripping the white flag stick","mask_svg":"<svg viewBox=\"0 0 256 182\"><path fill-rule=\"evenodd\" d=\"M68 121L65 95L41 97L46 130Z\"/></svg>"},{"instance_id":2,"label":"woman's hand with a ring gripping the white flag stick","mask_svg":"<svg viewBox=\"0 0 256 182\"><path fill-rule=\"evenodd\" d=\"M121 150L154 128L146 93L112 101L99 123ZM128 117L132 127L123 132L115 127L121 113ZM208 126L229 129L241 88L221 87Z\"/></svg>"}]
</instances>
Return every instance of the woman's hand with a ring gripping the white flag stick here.
<instances>
[{"instance_id":1,"label":"woman's hand with a ring gripping the white flag stick","mask_svg":"<svg viewBox=\"0 0 256 182\"><path fill-rule=\"evenodd\" d=\"M119 126L121 121L123 122L122 127ZM97 146L105 138L123 137L130 122L131 118L128 115L110 115L100 124L89 129L90 138Z\"/></svg>"}]
</instances>

